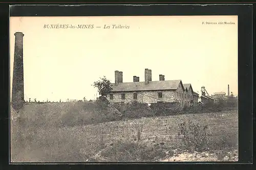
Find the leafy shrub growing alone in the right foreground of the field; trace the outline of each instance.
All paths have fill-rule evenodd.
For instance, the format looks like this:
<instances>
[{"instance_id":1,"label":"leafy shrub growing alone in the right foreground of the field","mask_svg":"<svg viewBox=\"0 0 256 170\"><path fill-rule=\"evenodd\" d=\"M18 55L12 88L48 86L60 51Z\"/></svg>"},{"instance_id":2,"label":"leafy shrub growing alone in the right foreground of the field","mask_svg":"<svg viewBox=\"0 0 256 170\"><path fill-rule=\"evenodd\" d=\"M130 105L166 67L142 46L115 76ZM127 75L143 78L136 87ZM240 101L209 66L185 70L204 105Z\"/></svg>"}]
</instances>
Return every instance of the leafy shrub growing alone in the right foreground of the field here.
<instances>
[{"instance_id":1,"label":"leafy shrub growing alone in the right foreground of the field","mask_svg":"<svg viewBox=\"0 0 256 170\"><path fill-rule=\"evenodd\" d=\"M179 124L179 136L182 135L182 143L186 150L190 152L202 151L207 148L209 144L209 137L207 134L208 125L200 125L188 122Z\"/></svg>"}]
</instances>

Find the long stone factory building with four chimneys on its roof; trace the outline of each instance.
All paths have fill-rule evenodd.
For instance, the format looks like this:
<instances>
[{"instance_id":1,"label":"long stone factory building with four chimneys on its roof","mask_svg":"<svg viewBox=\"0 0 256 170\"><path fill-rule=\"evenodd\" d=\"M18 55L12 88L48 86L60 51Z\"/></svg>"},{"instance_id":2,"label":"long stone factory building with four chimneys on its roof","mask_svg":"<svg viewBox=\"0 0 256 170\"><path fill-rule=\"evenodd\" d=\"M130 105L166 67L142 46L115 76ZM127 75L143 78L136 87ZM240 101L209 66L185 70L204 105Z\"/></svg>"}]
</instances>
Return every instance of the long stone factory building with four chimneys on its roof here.
<instances>
[{"instance_id":1,"label":"long stone factory building with four chimneys on its roof","mask_svg":"<svg viewBox=\"0 0 256 170\"><path fill-rule=\"evenodd\" d=\"M107 94L111 103L180 103L191 106L198 103L198 94L193 91L191 84L183 84L181 80L164 79L159 75L159 81L152 81L152 70L145 69L145 80L139 81L134 76L133 82L123 83L122 72L115 71L115 83L112 91Z\"/></svg>"}]
</instances>

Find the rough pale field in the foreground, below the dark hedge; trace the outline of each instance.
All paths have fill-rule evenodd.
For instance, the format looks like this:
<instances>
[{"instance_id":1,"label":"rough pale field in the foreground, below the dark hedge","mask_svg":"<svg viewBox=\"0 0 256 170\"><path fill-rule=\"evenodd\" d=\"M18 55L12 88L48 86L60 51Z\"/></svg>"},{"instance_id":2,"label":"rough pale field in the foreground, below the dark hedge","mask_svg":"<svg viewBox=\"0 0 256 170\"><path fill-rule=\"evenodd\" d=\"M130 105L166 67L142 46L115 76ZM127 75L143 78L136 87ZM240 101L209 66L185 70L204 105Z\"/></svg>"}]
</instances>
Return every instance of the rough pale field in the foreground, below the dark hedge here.
<instances>
[{"instance_id":1,"label":"rough pale field in the foreground, below the dark hedge","mask_svg":"<svg viewBox=\"0 0 256 170\"><path fill-rule=\"evenodd\" d=\"M189 153L183 150L178 137L178 124L187 120L202 125L207 124L212 140L218 142L220 139L225 139L228 147L214 150L209 146L208 151L201 153ZM32 127L32 129L33 131L29 132L31 133L29 140L27 139L22 147L20 145L16 148L12 147L13 162L87 162L93 161L96 155L101 157L100 161L123 159L148 161L151 157L151 161L238 160L237 111L144 117L85 126L51 129ZM144 148L139 145L137 148L127 147L123 144L138 143L138 129L141 130L139 143L142 143ZM12 135L15 135L15 127ZM115 143L122 143L116 150L119 153L112 151ZM122 147L127 149L122 151ZM106 155L100 155L103 152ZM135 158L138 157L135 153L140 156L140 159ZM151 157L148 154L152 154Z\"/></svg>"}]
</instances>

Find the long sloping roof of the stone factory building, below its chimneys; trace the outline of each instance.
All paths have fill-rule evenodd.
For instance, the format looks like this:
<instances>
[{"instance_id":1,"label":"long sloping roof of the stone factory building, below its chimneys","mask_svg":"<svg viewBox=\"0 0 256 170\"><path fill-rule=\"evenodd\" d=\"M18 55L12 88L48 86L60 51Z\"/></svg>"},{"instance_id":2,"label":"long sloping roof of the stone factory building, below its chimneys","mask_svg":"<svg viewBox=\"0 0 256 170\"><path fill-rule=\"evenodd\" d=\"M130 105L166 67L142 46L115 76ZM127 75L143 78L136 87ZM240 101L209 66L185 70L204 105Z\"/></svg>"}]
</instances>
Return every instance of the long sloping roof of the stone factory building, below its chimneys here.
<instances>
[{"instance_id":1,"label":"long sloping roof of the stone factory building, below its chimneys","mask_svg":"<svg viewBox=\"0 0 256 170\"><path fill-rule=\"evenodd\" d=\"M112 92L118 91L148 91L148 90L176 90L181 80L168 80L168 81L150 81L148 84L145 82L129 82L119 83L115 85L112 83Z\"/></svg>"}]
</instances>

